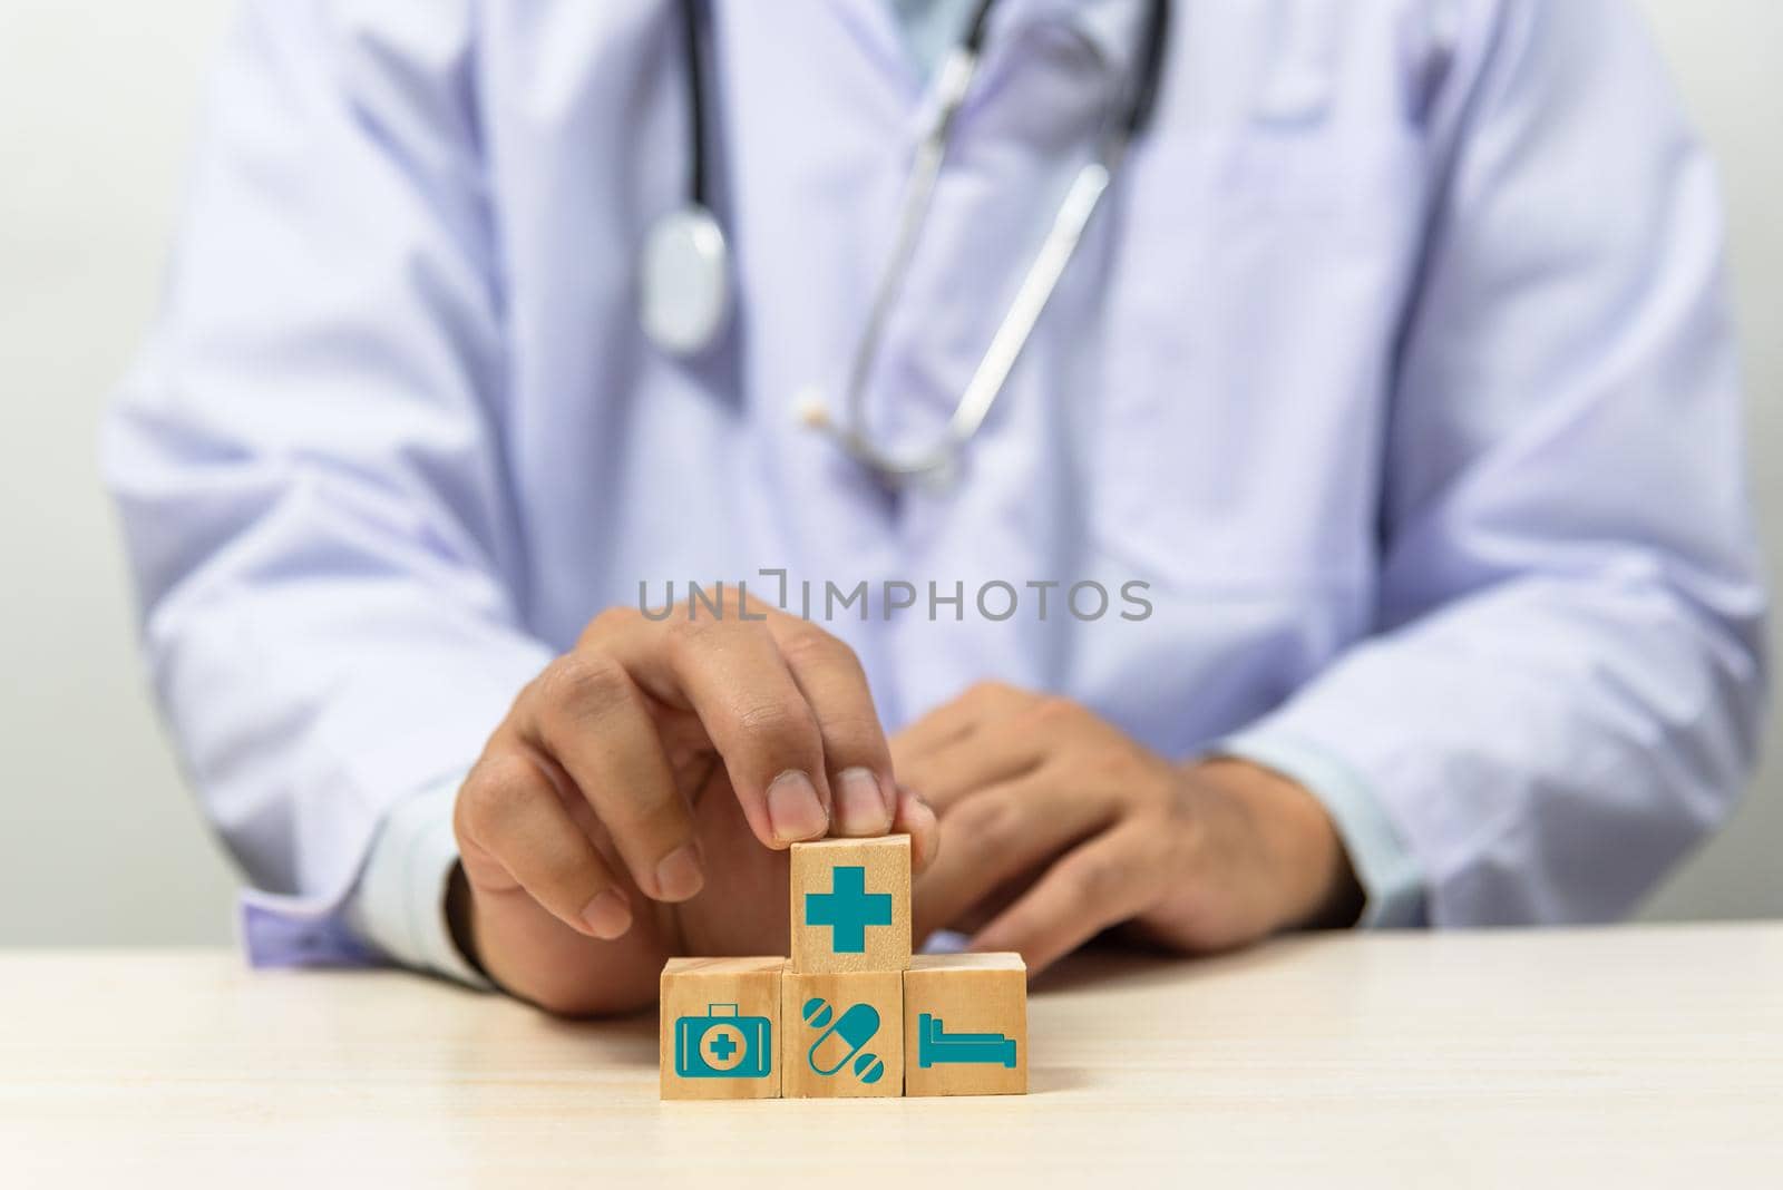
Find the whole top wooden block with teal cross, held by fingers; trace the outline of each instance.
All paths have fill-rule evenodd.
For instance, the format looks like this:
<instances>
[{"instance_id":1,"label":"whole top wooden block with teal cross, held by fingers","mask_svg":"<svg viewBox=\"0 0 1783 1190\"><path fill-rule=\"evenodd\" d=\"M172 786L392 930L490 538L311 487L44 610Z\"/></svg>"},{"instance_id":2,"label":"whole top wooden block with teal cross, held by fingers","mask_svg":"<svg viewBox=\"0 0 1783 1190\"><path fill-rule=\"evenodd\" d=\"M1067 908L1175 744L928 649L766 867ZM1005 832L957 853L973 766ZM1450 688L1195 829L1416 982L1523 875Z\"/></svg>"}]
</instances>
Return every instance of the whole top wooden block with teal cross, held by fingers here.
<instances>
[{"instance_id":1,"label":"whole top wooden block with teal cross, held by fingers","mask_svg":"<svg viewBox=\"0 0 1783 1190\"><path fill-rule=\"evenodd\" d=\"M909 966L909 835L792 844L792 969Z\"/></svg>"}]
</instances>

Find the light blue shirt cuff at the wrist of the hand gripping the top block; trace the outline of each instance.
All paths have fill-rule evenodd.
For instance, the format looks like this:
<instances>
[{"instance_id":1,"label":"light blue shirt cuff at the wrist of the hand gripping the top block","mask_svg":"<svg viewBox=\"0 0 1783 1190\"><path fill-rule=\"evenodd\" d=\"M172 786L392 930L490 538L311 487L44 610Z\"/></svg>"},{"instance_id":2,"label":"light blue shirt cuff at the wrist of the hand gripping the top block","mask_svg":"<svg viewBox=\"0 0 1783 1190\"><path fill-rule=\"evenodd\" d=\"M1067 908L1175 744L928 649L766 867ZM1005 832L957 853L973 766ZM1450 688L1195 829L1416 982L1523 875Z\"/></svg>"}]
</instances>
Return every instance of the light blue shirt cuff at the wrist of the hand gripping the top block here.
<instances>
[{"instance_id":1,"label":"light blue shirt cuff at the wrist of the hand gripping the top block","mask_svg":"<svg viewBox=\"0 0 1783 1190\"><path fill-rule=\"evenodd\" d=\"M346 926L385 958L467 987L489 978L458 950L446 894L458 866L451 830L464 773L426 786L390 807L344 909Z\"/></svg>"}]
</instances>

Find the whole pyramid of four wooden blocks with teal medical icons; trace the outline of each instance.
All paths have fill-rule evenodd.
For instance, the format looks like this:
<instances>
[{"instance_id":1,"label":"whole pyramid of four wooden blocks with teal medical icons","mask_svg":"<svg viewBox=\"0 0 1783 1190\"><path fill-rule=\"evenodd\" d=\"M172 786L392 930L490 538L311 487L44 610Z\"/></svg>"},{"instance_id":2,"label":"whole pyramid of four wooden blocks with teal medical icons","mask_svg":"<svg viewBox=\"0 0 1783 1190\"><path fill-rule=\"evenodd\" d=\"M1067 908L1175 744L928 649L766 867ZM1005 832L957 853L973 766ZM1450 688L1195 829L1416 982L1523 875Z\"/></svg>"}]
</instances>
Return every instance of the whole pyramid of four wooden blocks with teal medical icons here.
<instances>
[{"instance_id":1,"label":"whole pyramid of four wooden blocks with teal medical icons","mask_svg":"<svg viewBox=\"0 0 1783 1190\"><path fill-rule=\"evenodd\" d=\"M1027 1092L1027 967L911 958L909 835L795 843L790 859L790 960L663 967L663 1099Z\"/></svg>"}]
</instances>

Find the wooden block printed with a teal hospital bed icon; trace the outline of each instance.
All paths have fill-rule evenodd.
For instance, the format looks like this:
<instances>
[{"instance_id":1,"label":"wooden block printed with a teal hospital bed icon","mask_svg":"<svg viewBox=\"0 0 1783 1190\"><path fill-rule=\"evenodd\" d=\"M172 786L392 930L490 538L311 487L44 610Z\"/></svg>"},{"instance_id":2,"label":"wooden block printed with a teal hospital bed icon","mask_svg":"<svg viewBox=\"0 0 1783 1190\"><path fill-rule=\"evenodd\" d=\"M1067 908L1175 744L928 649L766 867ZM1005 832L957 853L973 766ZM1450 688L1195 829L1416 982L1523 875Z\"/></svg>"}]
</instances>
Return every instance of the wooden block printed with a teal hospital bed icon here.
<instances>
[{"instance_id":1,"label":"wooden block printed with a teal hospital bed icon","mask_svg":"<svg viewBox=\"0 0 1783 1190\"><path fill-rule=\"evenodd\" d=\"M1020 955L916 955L904 973L904 1094L1027 1094Z\"/></svg>"}]
</instances>

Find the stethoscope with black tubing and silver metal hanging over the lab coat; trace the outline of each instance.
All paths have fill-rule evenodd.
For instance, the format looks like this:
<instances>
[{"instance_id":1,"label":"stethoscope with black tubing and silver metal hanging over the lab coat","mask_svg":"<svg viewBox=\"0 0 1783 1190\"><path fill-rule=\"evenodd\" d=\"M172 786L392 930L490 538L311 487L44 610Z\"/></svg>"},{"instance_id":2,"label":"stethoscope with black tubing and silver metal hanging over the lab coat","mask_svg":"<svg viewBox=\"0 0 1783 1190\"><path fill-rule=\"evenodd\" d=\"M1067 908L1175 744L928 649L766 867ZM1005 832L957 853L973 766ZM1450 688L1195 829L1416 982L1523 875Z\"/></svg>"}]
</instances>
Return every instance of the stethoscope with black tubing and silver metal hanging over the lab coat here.
<instances>
[{"instance_id":1,"label":"stethoscope with black tubing and silver metal hanging over the lab coat","mask_svg":"<svg viewBox=\"0 0 1783 1190\"><path fill-rule=\"evenodd\" d=\"M977 435L998 394L1009 381L1022 349L1034 333L1039 315L1059 287L1064 267L1077 253L1084 228L1102 201L1114 171L1152 116L1157 86L1163 73L1164 41L1170 25L1170 0L1152 0L1145 25L1145 45L1139 71L1120 119L1104 128L1095 157L1072 180L1052 228L1016 289L1002 324L966 383L943 435L925 451L895 456L875 445L865 433L867 381L886 319L897 303L916 255L922 224L929 214L929 200L947 159L954 118L965 103L966 91L977 75L984 46L984 27L995 0L979 0L959 45L941 66L934 119L916 146L916 160L904 187L902 214L892 262L879 280L849 369L849 387L843 401L845 420L836 422L822 399L801 403L799 417L827 433L836 445L872 470L888 486L902 486L915 479L934 479L952 474L952 463L972 436ZM688 200L683 207L661 216L644 240L640 258L638 317L644 333L667 355L690 358L711 347L724 335L731 317L731 249L724 226L710 201L710 169L706 151L706 14L703 0L681 0L681 25L686 55L688 137L692 143L692 169Z\"/></svg>"}]
</instances>

